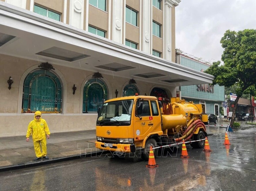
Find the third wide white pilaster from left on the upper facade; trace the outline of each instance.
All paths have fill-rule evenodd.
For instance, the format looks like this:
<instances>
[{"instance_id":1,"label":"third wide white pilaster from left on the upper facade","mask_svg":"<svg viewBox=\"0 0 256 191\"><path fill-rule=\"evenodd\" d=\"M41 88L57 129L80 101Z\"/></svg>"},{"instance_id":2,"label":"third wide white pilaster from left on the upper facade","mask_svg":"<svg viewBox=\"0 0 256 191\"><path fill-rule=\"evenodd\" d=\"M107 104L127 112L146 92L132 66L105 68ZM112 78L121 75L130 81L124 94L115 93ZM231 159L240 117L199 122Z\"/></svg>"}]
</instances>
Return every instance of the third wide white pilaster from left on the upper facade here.
<instances>
[{"instance_id":1,"label":"third wide white pilaster from left on the upper facade","mask_svg":"<svg viewBox=\"0 0 256 191\"><path fill-rule=\"evenodd\" d=\"M142 0L142 51L152 54L152 0Z\"/></svg>"}]
</instances>

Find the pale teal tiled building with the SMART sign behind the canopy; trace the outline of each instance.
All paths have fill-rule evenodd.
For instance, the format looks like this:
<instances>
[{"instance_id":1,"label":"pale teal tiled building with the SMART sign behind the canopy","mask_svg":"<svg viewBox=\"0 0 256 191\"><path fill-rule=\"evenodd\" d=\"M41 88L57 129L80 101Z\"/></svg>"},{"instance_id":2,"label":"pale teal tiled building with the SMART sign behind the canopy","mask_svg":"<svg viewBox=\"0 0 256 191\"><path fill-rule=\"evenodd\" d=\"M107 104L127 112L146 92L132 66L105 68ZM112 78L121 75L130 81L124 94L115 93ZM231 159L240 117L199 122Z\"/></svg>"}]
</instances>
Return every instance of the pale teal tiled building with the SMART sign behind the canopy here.
<instances>
[{"instance_id":1,"label":"pale teal tiled building with the SMART sign behind the canopy","mask_svg":"<svg viewBox=\"0 0 256 191\"><path fill-rule=\"evenodd\" d=\"M189 54L182 51L177 50L176 55L177 63L189 67L191 70L203 72L210 67L208 63L196 60L192 56L187 56ZM223 102L225 101L224 86L211 86L208 83L180 86L180 92L182 99L193 101L196 104L202 104L205 113L213 113L219 118L221 117L220 107L223 107ZM224 109L224 115L225 112L226 109Z\"/></svg>"}]
</instances>

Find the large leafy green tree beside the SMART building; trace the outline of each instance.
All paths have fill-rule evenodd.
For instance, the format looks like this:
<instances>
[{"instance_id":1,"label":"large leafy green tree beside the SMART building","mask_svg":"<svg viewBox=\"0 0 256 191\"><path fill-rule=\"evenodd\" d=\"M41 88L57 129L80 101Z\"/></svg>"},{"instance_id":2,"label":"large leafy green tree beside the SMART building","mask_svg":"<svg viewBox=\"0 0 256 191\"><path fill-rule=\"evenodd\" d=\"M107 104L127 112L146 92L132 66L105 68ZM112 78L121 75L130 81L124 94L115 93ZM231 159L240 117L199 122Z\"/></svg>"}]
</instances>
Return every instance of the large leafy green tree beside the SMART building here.
<instances>
[{"instance_id":1,"label":"large leafy green tree beside the SMART building","mask_svg":"<svg viewBox=\"0 0 256 191\"><path fill-rule=\"evenodd\" d=\"M213 85L219 84L227 88L236 85L233 115L230 125L233 126L235 111L239 98L249 87L256 87L256 30L227 30L220 40L224 49L220 61L213 62L206 73L215 76Z\"/></svg>"}]
</instances>

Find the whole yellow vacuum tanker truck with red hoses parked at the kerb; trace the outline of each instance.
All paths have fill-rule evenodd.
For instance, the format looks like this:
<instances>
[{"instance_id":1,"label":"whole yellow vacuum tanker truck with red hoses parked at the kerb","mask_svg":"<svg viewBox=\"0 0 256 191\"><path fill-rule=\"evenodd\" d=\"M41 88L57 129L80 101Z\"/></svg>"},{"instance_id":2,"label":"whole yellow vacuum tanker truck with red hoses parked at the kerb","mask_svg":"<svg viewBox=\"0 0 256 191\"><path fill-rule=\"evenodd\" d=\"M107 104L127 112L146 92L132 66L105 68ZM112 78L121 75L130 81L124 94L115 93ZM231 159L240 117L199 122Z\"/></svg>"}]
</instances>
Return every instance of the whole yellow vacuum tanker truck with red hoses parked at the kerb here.
<instances>
[{"instance_id":1,"label":"whole yellow vacuum tanker truck with red hoses parked at the kerb","mask_svg":"<svg viewBox=\"0 0 256 191\"><path fill-rule=\"evenodd\" d=\"M139 95L110 99L98 107L95 147L118 155L140 153L148 160L150 146L205 139L207 121L201 104L176 97L168 102ZM194 148L204 145L205 140L191 143Z\"/></svg>"}]
</instances>

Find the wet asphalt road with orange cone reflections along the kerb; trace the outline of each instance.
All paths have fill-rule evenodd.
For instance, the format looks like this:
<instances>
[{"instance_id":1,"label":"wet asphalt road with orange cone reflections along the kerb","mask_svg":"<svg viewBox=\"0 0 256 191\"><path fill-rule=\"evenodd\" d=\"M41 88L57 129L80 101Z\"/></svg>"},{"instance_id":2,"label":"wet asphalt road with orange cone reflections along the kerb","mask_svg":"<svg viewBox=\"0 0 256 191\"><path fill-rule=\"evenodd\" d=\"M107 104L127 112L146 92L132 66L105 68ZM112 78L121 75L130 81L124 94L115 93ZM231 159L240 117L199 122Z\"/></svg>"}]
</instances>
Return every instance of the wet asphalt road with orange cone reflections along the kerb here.
<instances>
[{"instance_id":1,"label":"wet asphalt road with orange cone reflections along the kerb","mask_svg":"<svg viewBox=\"0 0 256 191\"><path fill-rule=\"evenodd\" d=\"M0 173L1 190L255 190L256 128L209 136L212 152L187 145L156 157L157 168L140 158L88 157Z\"/></svg>"}]
</instances>

